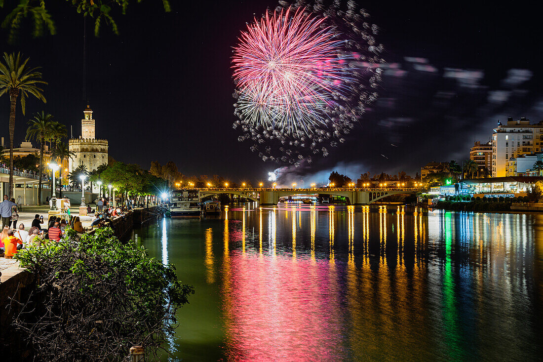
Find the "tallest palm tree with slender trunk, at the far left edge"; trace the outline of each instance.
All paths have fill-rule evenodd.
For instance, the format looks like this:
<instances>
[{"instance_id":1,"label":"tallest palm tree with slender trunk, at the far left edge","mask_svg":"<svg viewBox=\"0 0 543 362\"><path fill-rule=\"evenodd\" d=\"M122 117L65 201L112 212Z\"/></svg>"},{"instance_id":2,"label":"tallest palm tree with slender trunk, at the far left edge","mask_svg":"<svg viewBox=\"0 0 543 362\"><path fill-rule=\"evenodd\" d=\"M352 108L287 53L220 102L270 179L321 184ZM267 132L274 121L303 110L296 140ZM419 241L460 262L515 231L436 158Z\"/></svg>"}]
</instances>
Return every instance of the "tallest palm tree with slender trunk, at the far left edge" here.
<instances>
[{"instance_id":1,"label":"tallest palm tree with slender trunk, at the far left edge","mask_svg":"<svg viewBox=\"0 0 543 362\"><path fill-rule=\"evenodd\" d=\"M41 84L47 82L41 80L42 74L39 68L27 66L28 60L23 60L21 53L4 53L4 61L0 61L0 97L9 93L9 197L13 197L13 138L15 134L15 106L17 97L21 96L21 109L23 115L26 112L27 97L33 95L46 103L43 97Z\"/></svg>"}]
</instances>

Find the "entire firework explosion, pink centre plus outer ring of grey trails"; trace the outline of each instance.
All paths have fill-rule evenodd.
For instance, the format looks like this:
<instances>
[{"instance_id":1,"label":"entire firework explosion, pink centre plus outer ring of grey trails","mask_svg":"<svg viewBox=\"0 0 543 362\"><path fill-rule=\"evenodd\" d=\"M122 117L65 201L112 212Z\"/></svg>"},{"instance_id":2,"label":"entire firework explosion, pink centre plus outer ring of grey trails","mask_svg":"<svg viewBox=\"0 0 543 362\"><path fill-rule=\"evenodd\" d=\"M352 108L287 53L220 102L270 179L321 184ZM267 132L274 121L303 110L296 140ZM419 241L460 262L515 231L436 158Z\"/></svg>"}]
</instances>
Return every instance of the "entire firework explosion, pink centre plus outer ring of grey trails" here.
<instances>
[{"instance_id":1,"label":"entire firework explosion, pink centre plus outer ring of grey trails","mask_svg":"<svg viewBox=\"0 0 543 362\"><path fill-rule=\"evenodd\" d=\"M382 46L368 14L355 10L353 2L346 11L340 2L311 9L280 2L242 33L232 59L233 126L264 161L296 165L326 156L376 98Z\"/></svg>"}]
</instances>

